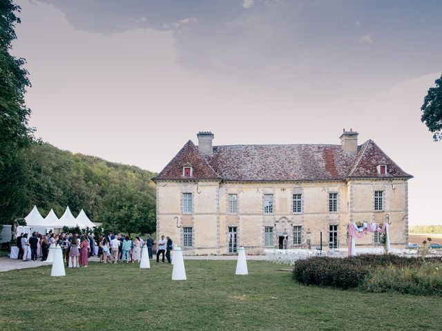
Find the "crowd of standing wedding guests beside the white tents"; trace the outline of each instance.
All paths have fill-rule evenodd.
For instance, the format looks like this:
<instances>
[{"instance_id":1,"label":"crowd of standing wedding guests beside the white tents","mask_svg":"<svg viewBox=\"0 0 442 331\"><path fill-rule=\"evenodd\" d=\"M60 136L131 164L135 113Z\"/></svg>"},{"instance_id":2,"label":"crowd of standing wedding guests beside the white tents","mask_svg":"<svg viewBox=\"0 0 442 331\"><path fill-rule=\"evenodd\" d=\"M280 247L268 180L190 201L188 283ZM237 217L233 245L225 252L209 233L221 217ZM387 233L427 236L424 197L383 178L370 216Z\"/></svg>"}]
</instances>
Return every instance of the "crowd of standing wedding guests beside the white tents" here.
<instances>
[{"instance_id":1,"label":"crowd of standing wedding guests beside the white tents","mask_svg":"<svg viewBox=\"0 0 442 331\"><path fill-rule=\"evenodd\" d=\"M101 263L140 263L142 248L146 245L148 250L148 258L153 259L153 247L157 245L157 262L162 262L164 257L171 263L171 250L173 249L173 241L170 237L164 236L155 243L150 234L147 235L146 241L141 237L131 238L124 236L122 233L114 234L109 232L107 235L101 235L95 243L94 234L82 234L81 236L72 233L55 234L48 232L40 234L32 232L30 238L28 234L21 234L17 237L17 247L19 254L17 259L28 261L28 250L30 250L31 261L41 261L48 259L48 253L51 248L59 246L61 248L64 262L68 267L79 268L88 266L88 258L95 255L94 247L98 245L97 256Z\"/></svg>"}]
</instances>

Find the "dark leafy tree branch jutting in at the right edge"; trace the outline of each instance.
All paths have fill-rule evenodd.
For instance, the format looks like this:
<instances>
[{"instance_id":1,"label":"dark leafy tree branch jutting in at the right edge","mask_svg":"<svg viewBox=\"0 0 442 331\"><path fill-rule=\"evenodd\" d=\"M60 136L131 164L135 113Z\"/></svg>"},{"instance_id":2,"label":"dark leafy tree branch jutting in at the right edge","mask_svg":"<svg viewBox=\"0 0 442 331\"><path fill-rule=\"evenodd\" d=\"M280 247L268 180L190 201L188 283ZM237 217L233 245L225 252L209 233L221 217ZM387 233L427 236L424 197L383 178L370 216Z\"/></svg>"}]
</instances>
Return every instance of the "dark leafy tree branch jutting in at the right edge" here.
<instances>
[{"instance_id":1,"label":"dark leafy tree branch jutting in at the right edge","mask_svg":"<svg viewBox=\"0 0 442 331\"><path fill-rule=\"evenodd\" d=\"M434 83L436 87L430 88L423 100L421 121L433 132L434 141L439 141L442 139L442 75Z\"/></svg>"}]
</instances>

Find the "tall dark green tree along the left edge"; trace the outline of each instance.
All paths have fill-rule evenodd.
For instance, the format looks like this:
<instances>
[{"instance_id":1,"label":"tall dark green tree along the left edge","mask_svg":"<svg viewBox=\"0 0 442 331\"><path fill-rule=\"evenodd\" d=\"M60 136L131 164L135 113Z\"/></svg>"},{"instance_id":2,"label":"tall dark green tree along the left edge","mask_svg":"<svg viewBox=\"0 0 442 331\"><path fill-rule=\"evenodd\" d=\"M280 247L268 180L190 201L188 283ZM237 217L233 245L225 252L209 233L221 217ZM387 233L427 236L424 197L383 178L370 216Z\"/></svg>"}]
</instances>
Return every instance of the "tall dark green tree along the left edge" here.
<instances>
[{"instance_id":1,"label":"tall dark green tree along the left edge","mask_svg":"<svg viewBox=\"0 0 442 331\"><path fill-rule=\"evenodd\" d=\"M19 12L20 7L11 0L0 0L0 223L22 216L29 204L30 171L23 148L33 140L28 126L30 109L24 101L30 81L23 68L26 61L10 54Z\"/></svg>"}]
</instances>

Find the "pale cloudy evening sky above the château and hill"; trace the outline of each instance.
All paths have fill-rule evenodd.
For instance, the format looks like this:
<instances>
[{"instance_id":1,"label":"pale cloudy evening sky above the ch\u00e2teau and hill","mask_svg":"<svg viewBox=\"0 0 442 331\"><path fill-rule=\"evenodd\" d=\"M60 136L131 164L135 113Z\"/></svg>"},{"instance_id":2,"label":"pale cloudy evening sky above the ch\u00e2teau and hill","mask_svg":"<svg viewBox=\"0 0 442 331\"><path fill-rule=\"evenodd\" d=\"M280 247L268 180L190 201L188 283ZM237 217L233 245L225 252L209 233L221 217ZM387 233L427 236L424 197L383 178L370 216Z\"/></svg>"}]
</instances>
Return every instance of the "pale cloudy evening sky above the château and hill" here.
<instances>
[{"instance_id":1,"label":"pale cloudy evening sky above the ch\u00e2teau and hill","mask_svg":"<svg viewBox=\"0 0 442 331\"><path fill-rule=\"evenodd\" d=\"M214 145L374 140L409 182L410 225L442 224L442 142L421 123L442 73L442 2L19 0L37 137L159 172Z\"/></svg>"}]
</instances>

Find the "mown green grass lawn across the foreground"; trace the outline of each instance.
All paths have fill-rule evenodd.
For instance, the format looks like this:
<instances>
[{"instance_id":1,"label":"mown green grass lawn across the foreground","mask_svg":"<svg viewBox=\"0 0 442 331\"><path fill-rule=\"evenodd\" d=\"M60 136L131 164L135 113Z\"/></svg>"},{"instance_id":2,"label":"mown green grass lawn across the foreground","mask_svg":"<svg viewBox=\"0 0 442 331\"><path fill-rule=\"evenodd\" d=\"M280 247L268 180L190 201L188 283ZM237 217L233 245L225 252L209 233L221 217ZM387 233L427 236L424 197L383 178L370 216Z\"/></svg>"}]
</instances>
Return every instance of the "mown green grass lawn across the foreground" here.
<instances>
[{"instance_id":1,"label":"mown green grass lawn across the foreground","mask_svg":"<svg viewBox=\"0 0 442 331\"><path fill-rule=\"evenodd\" d=\"M441 330L441 297L305 287L264 261L249 261L248 276L236 261L185 263L187 281L155 262L2 272L0 329Z\"/></svg>"}]
</instances>

